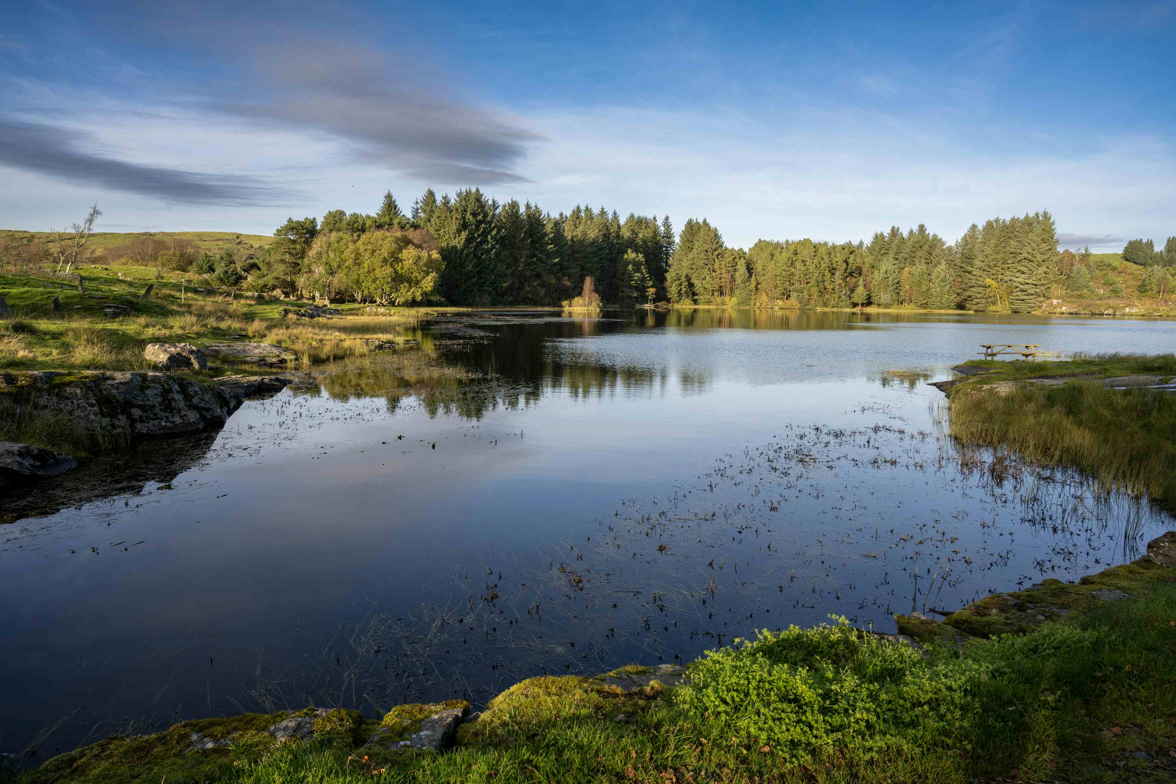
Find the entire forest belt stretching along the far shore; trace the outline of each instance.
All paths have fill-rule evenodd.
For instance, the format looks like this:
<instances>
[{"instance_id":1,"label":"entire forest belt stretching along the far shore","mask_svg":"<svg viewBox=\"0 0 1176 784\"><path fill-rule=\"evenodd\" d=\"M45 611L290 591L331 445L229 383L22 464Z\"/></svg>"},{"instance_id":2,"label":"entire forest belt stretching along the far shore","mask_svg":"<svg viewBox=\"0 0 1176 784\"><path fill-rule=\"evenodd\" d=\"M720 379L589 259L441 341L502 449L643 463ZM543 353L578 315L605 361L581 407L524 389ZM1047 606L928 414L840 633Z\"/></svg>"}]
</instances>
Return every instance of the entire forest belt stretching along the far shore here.
<instances>
[{"instance_id":1,"label":"entire forest belt stretching along the far shore","mask_svg":"<svg viewBox=\"0 0 1176 784\"><path fill-rule=\"evenodd\" d=\"M1131 240L1112 261L1089 248L1060 252L1048 210L974 223L950 244L918 225L869 242L760 240L744 250L706 219L675 236L668 216L622 220L587 205L553 215L477 188L440 197L430 188L407 214L388 192L374 215L290 217L263 247L211 254L141 237L105 253L225 288L381 306L568 304L590 277L610 306L1028 313L1050 297L1121 297L1124 280L1132 295L1163 299L1176 282L1176 236L1158 250ZM1128 268L1141 272L1112 275Z\"/></svg>"}]
</instances>

